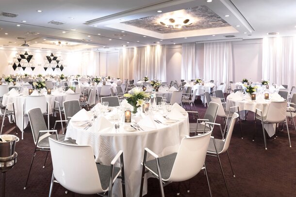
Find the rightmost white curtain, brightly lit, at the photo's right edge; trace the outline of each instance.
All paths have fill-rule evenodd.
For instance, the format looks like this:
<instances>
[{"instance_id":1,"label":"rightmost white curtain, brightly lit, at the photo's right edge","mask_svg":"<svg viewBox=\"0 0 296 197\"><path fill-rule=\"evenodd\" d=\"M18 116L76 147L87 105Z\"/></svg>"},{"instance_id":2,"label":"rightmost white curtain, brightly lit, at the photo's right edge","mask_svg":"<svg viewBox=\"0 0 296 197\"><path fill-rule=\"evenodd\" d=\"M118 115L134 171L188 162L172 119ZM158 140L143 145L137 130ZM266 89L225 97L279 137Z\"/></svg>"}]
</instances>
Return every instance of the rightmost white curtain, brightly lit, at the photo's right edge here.
<instances>
[{"instance_id":1,"label":"rightmost white curtain, brightly lit, at the photo's right edge","mask_svg":"<svg viewBox=\"0 0 296 197\"><path fill-rule=\"evenodd\" d=\"M278 85L296 84L296 38L263 39L262 77Z\"/></svg>"}]
</instances>

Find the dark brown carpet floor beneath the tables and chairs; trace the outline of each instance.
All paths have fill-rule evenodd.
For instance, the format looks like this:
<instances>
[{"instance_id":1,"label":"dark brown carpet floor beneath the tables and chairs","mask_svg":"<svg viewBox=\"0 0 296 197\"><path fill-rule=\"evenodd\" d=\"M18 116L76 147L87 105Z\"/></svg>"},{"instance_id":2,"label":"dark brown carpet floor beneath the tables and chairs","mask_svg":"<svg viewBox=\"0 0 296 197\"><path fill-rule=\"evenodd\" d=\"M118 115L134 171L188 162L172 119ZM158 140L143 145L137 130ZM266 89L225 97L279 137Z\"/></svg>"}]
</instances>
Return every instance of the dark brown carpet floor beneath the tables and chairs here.
<instances>
[{"instance_id":1,"label":"dark brown carpet floor beneath the tables and chairs","mask_svg":"<svg viewBox=\"0 0 296 197\"><path fill-rule=\"evenodd\" d=\"M200 100L196 101L197 111L202 118L206 107ZM191 115L190 115L191 116ZM257 123L257 135L252 141L254 123L252 112L248 113L247 121L242 121L243 136L241 139L239 124L236 123L230 142L230 159L236 177L231 173L226 154L221 154L222 167L226 176L231 197L292 197L296 196L296 132L289 122L292 148L288 144L287 131L280 132L276 139L267 139L267 148L264 149L263 133L260 123ZM51 119L53 121L56 118ZM195 121L190 118L190 121ZM217 117L218 123L221 119ZM8 121L4 123L3 133L15 134L14 127ZM59 125L60 126L60 125ZM60 128L58 128L60 129ZM20 137L20 132L18 134ZM215 137L221 137L220 131L215 128ZM6 173L6 197L47 197L52 173L51 158L49 156L45 168L42 168L46 152L37 152L33 170L27 189L24 184L27 178L30 162L34 150L33 136L30 126L25 130L24 139L16 143L18 153L16 166ZM206 158L210 184L214 197L226 197L227 192L218 160L215 157ZM0 185L2 179L0 179ZM140 184L140 182L139 182ZM206 176L201 171L191 180L190 193L187 193L188 182L181 182L180 197L208 197L210 196ZM176 196L178 183L171 183L164 187L166 197ZM55 183L53 196L67 197L65 189ZM75 194L76 197L83 195ZM97 195L89 195L97 196ZM145 197L159 197L160 190L156 179L148 180L148 194Z\"/></svg>"}]
</instances>

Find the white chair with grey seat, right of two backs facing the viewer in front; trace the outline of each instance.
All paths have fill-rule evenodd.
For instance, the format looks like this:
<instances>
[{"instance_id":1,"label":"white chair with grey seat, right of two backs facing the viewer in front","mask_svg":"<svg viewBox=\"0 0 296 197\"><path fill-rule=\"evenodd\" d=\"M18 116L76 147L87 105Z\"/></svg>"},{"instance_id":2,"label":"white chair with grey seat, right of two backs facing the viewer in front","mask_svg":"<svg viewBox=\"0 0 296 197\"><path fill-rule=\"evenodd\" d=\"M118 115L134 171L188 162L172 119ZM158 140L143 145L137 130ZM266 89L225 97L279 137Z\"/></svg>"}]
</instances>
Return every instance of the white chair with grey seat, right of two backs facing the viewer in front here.
<instances>
[{"instance_id":1,"label":"white chair with grey seat, right of two backs facing the viewer in front","mask_svg":"<svg viewBox=\"0 0 296 197\"><path fill-rule=\"evenodd\" d=\"M142 197L144 175L151 173L159 180L161 196L164 197L164 186L170 182L182 182L195 177L201 169L205 169L210 195L212 196L205 158L208 150L212 132L193 137L184 137L181 141L178 152L159 157L156 153L145 148L142 168L142 180L139 197ZM146 161L147 154L155 159ZM180 193L180 184L177 195Z\"/></svg>"}]
</instances>

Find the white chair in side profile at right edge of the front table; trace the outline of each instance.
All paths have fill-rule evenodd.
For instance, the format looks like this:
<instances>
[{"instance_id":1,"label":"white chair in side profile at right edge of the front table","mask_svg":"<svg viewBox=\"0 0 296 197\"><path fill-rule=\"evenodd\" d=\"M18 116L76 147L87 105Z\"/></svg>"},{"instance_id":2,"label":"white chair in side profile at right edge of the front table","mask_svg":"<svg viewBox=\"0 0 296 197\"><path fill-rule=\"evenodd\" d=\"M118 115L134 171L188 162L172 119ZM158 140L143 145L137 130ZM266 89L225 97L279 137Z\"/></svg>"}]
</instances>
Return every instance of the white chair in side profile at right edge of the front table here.
<instances>
[{"instance_id":1,"label":"white chair in side profile at right edge of the front table","mask_svg":"<svg viewBox=\"0 0 296 197\"><path fill-rule=\"evenodd\" d=\"M236 119L238 117L239 117L239 115L237 113L234 113L233 116L231 117L229 130L228 130L225 138L223 136L222 136L222 139L217 139L217 138L214 138L213 136L211 137L211 140L210 140L210 143L209 143L209 148L208 148L208 151L207 151L207 153L208 153L207 155L215 156L215 157L218 158L228 196L229 196L229 192L228 192L227 183L226 183L226 179L225 179L225 176L224 176L224 172L223 172L223 168L222 168L222 165L221 165L219 154L221 154L223 152L227 153L230 168L231 168L233 177L235 177L232 166L231 166L231 162L230 162L228 148L229 148L229 145L230 145L230 139L231 139L231 136L232 136L232 131L233 131L233 128L234 128L234 124L235 124L235 121L236 121ZM213 123L213 122L206 122L206 124L209 124L209 125L212 124L213 126L214 126L214 124L220 125L220 124ZM222 130L221 130L221 132L222 132Z\"/></svg>"}]
</instances>

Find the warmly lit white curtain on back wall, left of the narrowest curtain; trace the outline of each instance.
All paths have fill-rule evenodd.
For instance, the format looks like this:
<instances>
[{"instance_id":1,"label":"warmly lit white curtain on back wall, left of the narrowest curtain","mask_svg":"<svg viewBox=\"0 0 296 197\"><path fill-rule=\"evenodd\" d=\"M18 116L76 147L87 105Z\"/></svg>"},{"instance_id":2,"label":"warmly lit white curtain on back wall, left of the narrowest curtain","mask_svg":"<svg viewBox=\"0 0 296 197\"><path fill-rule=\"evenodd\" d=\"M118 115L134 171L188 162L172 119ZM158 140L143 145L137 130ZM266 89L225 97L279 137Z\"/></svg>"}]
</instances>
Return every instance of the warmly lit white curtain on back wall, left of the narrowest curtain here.
<instances>
[{"instance_id":1,"label":"warmly lit white curtain on back wall, left of the narrowest curtain","mask_svg":"<svg viewBox=\"0 0 296 197\"><path fill-rule=\"evenodd\" d=\"M144 76L149 79L166 81L165 46L136 47L134 52L134 80L141 80Z\"/></svg>"}]
</instances>

